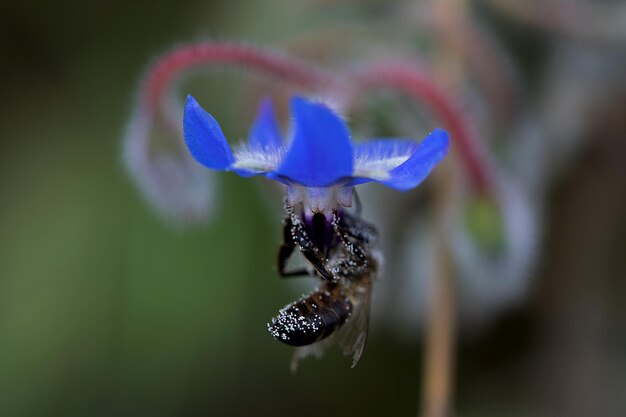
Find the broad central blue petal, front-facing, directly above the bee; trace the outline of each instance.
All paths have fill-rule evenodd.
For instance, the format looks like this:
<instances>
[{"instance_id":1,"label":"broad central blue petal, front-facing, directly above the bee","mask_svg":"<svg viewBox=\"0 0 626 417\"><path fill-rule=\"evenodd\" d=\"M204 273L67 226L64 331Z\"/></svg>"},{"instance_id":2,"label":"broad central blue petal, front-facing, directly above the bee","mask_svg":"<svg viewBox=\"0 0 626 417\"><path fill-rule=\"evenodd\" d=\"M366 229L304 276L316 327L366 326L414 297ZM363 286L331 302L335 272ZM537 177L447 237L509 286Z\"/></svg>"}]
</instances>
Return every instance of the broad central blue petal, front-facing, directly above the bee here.
<instances>
[{"instance_id":1,"label":"broad central blue petal, front-facing, directly above the bee","mask_svg":"<svg viewBox=\"0 0 626 417\"><path fill-rule=\"evenodd\" d=\"M325 187L352 175L350 133L344 121L321 103L294 97L293 142L278 169L269 176L291 183Z\"/></svg>"}]
</instances>

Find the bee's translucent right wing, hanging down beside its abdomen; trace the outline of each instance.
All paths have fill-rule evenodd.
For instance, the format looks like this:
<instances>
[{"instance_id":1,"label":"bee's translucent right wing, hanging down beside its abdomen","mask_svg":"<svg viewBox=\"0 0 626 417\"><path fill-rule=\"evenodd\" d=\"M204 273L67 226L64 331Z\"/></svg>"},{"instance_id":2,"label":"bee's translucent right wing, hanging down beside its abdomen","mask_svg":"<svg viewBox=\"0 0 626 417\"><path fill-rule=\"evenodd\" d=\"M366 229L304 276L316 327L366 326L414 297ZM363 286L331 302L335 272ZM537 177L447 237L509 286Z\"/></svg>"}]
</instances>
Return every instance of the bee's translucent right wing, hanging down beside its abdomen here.
<instances>
[{"instance_id":1,"label":"bee's translucent right wing, hanging down beside its abdomen","mask_svg":"<svg viewBox=\"0 0 626 417\"><path fill-rule=\"evenodd\" d=\"M360 286L355 294L355 309L348 323L341 329L339 344L343 348L346 356L352 355L352 368L354 368L361 358L365 343L367 342L367 332L370 321L370 304L372 294L372 282Z\"/></svg>"}]
</instances>

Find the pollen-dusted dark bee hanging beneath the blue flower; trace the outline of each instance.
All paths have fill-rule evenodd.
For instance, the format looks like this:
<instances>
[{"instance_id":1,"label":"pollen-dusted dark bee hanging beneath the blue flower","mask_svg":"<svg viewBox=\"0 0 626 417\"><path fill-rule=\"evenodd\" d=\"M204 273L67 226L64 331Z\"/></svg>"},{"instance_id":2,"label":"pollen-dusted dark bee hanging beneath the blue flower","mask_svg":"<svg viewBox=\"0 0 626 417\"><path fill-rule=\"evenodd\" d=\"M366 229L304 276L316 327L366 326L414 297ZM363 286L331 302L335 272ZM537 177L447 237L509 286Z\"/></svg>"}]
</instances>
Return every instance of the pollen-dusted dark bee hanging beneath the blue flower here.
<instances>
[{"instance_id":1,"label":"pollen-dusted dark bee hanging beneath the blue flower","mask_svg":"<svg viewBox=\"0 0 626 417\"><path fill-rule=\"evenodd\" d=\"M330 221L323 214L307 221L287 208L283 231L280 275L314 276L320 285L282 308L268 324L269 332L278 341L298 347L292 371L301 359L320 357L335 342L345 355L352 355L354 367L367 341L372 285L379 265L373 249L376 229L359 215L333 211ZM309 267L286 271L296 247Z\"/></svg>"}]
</instances>

